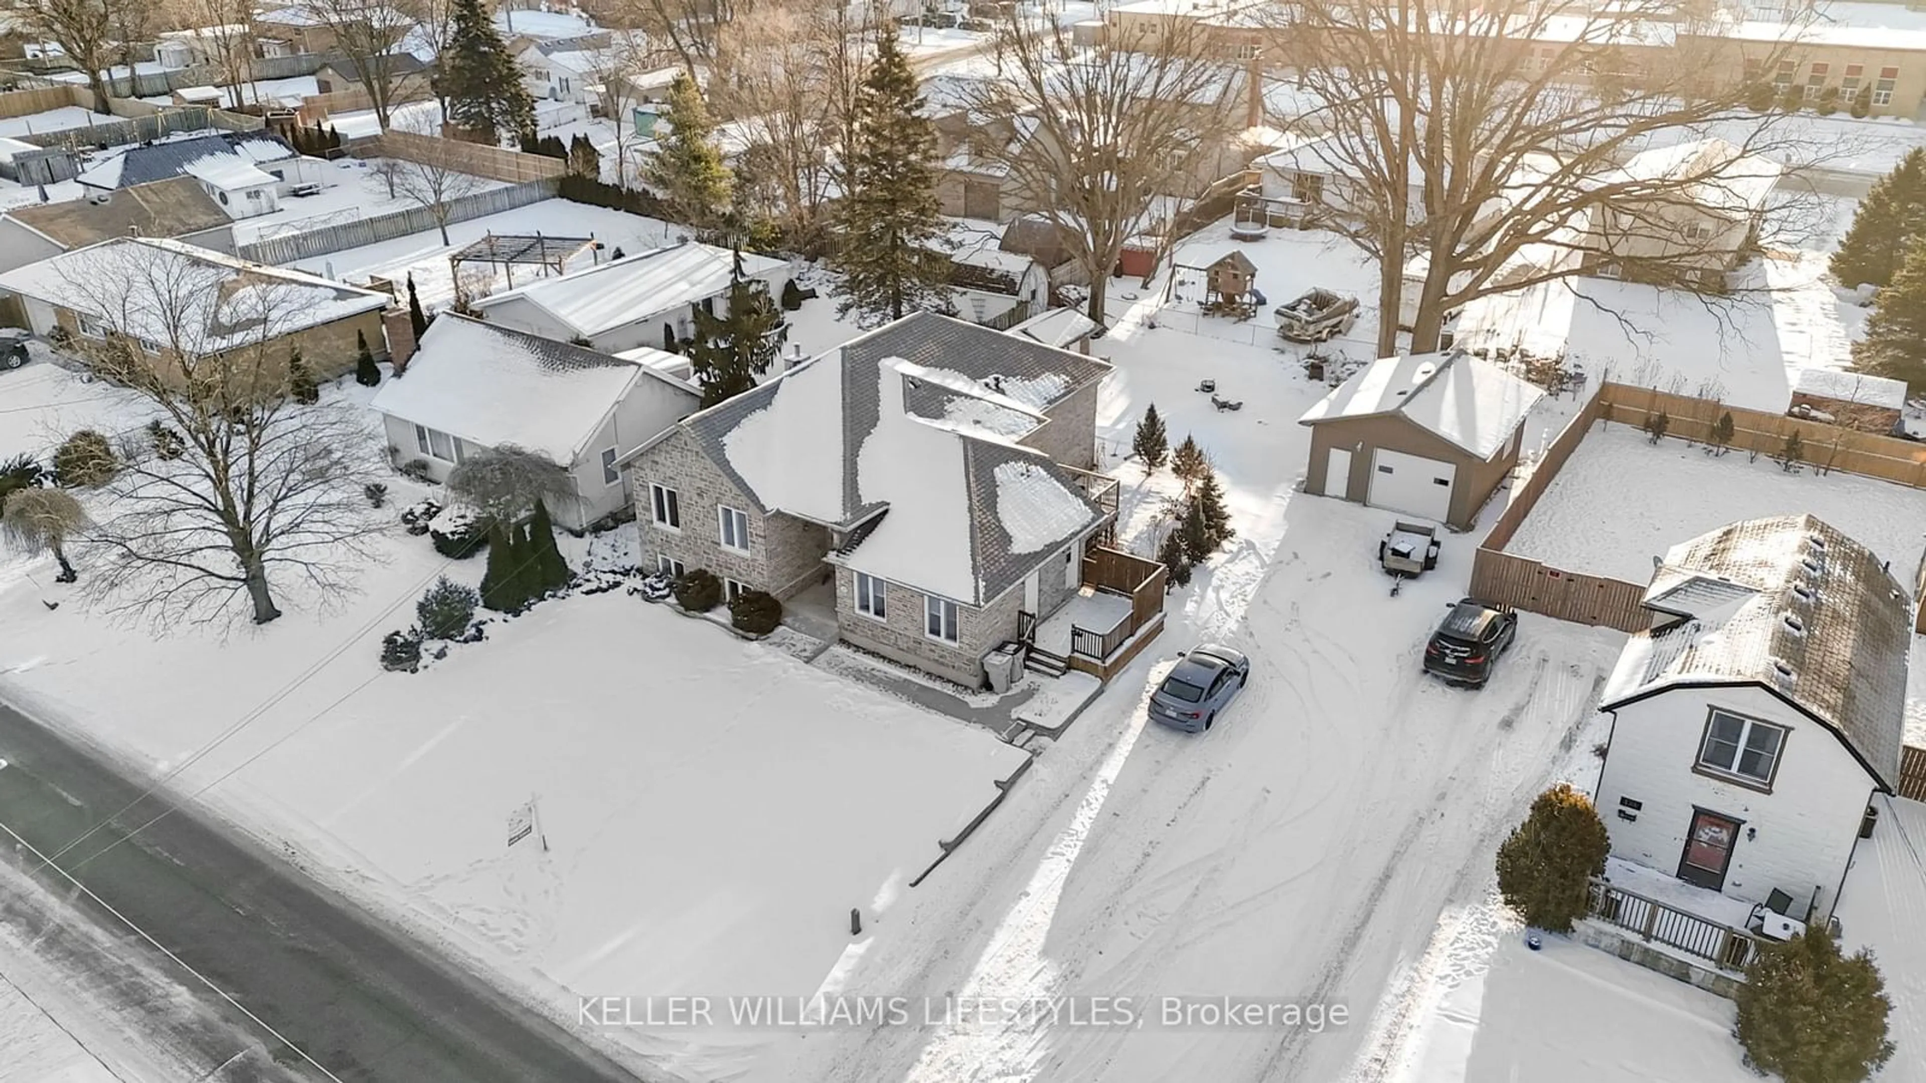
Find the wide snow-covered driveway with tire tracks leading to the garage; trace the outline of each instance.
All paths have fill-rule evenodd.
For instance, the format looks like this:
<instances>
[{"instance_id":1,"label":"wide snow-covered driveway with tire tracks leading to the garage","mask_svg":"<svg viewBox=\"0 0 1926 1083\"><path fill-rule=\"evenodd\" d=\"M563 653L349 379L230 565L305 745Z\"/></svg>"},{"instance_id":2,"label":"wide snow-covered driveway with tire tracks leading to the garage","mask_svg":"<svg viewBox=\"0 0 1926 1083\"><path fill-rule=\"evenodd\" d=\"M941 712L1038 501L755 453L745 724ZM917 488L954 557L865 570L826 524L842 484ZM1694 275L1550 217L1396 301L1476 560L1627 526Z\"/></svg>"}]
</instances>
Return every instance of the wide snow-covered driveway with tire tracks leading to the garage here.
<instances>
[{"instance_id":1,"label":"wide snow-covered driveway with tire tracks leading to the garage","mask_svg":"<svg viewBox=\"0 0 1926 1083\"><path fill-rule=\"evenodd\" d=\"M1337 1081L1373 1077L1398 977L1446 904L1483 892L1502 834L1591 717L1612 632L1525 617L1481 692L1419 655L1470 540L1387 594L1391 518L1290 497L1242 607L1184 615L1038 761L1025 786L878 931L840 989L874 996L1240 996L1344 1004L1346 1027L874 1027L792 1037L795 1081ZM1279 530L1273 526L1273 530ZM1148 682L1192 638L1252 655L1213 732L1146 725ZM1385 992L1387 987L1392 992Z\"/></svg>"}]
</instances>

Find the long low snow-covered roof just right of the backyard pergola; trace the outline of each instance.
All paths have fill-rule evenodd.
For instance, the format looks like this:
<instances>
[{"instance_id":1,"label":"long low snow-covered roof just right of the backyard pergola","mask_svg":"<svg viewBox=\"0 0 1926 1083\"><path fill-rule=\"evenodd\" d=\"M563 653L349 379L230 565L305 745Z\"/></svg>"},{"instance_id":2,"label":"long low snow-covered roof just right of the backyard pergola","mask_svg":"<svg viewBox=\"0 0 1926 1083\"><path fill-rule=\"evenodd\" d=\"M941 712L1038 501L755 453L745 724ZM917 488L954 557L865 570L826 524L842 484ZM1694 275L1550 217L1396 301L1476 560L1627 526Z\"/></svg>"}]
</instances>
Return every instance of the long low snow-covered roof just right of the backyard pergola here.
<instances>
[{"instance_id":1,"label":"long low snow-covered roof just right of the backyard pergola","mask_svg":"<svg viewBox=\"0 0 1926 1083\"><path fill-rule=\"evenodd\" d=\"M555 316L570 331L595 337L647 320L657 312L670 312L705 297L722 295L730 283L732 262L734 254L728 249L684 241L670 249L636 252L495 293L476 301L476 308L487 312L508 299L522 299ZM747 277L765 276L782 266L782 260L753 252L742 254L742 270Z\"/></svg>"}]
</instances>

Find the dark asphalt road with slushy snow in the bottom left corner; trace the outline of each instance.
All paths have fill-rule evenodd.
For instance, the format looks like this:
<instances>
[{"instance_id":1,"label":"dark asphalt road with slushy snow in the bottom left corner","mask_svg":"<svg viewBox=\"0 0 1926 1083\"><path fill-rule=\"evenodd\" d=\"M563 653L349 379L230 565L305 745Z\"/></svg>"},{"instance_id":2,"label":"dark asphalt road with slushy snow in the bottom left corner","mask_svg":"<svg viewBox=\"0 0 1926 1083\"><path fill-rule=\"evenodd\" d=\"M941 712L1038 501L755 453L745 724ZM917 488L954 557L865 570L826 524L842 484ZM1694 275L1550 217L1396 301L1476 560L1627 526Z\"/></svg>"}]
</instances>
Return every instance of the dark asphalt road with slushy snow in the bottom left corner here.
<instances>
[{"instance_id":1,"label":"dark asphalt road with slushy snow in the bottom left corner","mask_svg":"<svg viewBox=\"0 0 1926 1083\"><path fill-rule=\"evenodd\" d=\"M168 1075L327 1079L179 964L137 938L27 846L54 854L141 794L139 784L0 705L0 861L31 871L96 929L54 929L29 896L0 908L0 944L35 942L75 987L121 998L125 1019L162 1054L195 1071ZM252 852L187 811L133 842L121 834L168 806L144 800L60 858L100 902L245 1004L343 1081L603 1083L632 1079L559 1027L514 1008L485 983L431 962L399 935L322 894L273 858ZM10 834L12 832L12 834ZM21 842L23 840L23 842ZM37 871L35 871L37 869ZM10 871L12 875L12 871ZM102 946L106 944L106 946ZM12 952L12 946L10 946ZM171 987L171 992L168 992ZM144 1002L154 991L162 1002ZM181 992L185 991L185 992ZM200 1004L189 1000L198 998ZM8 1077L0 1054L0 1079Z\"/></svg>"}]
</instances>

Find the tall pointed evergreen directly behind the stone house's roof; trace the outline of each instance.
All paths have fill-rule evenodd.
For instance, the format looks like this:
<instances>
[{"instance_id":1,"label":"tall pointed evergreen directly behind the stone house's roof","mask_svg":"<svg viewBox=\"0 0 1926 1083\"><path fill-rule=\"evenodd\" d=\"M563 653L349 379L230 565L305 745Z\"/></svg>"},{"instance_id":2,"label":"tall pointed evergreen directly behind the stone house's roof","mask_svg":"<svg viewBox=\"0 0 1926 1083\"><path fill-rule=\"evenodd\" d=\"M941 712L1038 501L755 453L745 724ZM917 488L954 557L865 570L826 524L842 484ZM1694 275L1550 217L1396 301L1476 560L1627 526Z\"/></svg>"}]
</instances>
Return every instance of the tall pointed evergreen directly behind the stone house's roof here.
<instances>
[{"instance_id":1,"label":"tall pointed evergreen directly behind the stone house's roof","mask_svg":"<svg viewBox=\"0 0 1926 1083\"><path fill-rule=\"evenodd\" d=\"M861 322L899 320L948 299L950 260L930 251L944 235L936 202L936 129L923 116L917 75L896 46L876 58L855 92L849 193L842 204L838 266L849 297L840 312Z\"/></svg>"}]
</instances>

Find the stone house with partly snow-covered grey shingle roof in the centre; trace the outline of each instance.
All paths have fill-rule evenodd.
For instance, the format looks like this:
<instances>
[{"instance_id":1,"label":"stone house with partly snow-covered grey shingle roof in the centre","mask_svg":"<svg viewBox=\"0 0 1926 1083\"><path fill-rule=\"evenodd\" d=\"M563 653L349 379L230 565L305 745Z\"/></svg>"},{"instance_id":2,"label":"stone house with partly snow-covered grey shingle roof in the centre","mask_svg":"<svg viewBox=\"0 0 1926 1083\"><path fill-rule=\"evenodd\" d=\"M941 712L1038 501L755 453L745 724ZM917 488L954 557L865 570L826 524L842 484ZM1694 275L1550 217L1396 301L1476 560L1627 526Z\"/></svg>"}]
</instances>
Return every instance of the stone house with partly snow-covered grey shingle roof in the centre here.
<instances>
[{"instance_id":1,"label":"stone house with partly snow-covered grey shingle roof in the centre","mask_svg":"<svg viewBox=\"0 0 1926 1083\"><path fill-rule=\"evenodd\" d=\"M963 684L1079 594L1111 524L1109 364L919 312L684 418L628 462L645 561L728 594L834 584L838 634Z\"/></svg>"}]
</instances>

